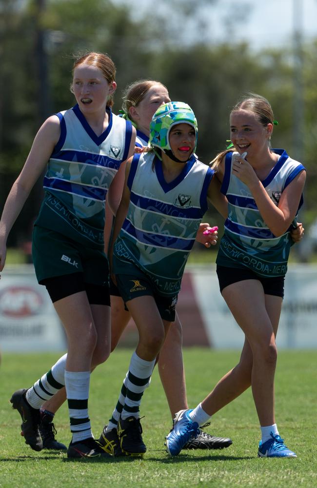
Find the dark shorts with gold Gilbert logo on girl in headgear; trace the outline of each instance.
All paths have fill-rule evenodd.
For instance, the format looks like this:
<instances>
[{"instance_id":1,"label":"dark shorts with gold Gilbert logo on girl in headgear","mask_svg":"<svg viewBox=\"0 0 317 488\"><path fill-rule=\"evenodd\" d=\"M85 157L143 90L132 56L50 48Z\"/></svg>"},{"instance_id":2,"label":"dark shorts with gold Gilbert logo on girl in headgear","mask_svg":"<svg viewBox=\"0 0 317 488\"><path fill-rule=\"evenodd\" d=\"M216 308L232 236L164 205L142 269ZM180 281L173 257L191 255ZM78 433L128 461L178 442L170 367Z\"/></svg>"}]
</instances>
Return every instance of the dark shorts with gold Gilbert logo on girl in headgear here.
<instances>
[{"instance_id":1,"label":"dark shorts with gold Gilbert logo on girl in headgear","mask_svg":"<svg viewBox=\"0 0 317 488\"><path fill-rule=\"evenodd\" d=\"M150 295L155 300L161 318L168 322L174 322L178 295L171 297L159 295L150 278L147 277L138 266L133 263L125 262L124 264L124 274L117 274L116 280L120 296L124 301L126 309L128 310L126 303L130 300Z\"/></svg>"}]
</instances>

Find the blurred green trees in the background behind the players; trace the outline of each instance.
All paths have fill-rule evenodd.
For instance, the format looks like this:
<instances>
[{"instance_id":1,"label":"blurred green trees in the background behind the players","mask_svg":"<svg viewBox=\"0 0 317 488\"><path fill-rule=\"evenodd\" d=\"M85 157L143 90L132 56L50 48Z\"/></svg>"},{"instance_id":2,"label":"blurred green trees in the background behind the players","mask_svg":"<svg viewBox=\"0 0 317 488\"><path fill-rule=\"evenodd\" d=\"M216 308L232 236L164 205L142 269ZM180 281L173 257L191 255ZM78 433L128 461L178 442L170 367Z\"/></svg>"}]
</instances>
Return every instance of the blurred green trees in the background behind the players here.
<instances>
[{"instance_id":1,"label":"blurred green trees in the background behind the players","mask_svg":"<svg viewBox=\"0 0 317 488\"><path fill-rule=\"evenodd\" d=\"M162 0L145 16L133 1L0 0L0 82L5 86L0 95L0 209L40 124L49 114L74 104L69 86L79 52L107 52L115 61L115 113L125 86L140 78L158 79L172 99L188 102L198 118L197 152L206 163L226 146L230 108L248 91L270 100L279 122L273 146L294 155L291 48L255 53L247 44L234 42L234 36L223 44L212 43L205 12L216 4L218 0ZM243 2L235 7L235 21L241 14L245 18L244 7ZM222 22L228 33L235 28L230 8L225 18L214 22ZM317 41L304 47L303 162L309 171L305 210L314 211ZM11 245L29 232L40 204L40 185L26 203L23 219L13 227ZM303 216L301 220L305 222Z\"/></svg>"}]
</instances>

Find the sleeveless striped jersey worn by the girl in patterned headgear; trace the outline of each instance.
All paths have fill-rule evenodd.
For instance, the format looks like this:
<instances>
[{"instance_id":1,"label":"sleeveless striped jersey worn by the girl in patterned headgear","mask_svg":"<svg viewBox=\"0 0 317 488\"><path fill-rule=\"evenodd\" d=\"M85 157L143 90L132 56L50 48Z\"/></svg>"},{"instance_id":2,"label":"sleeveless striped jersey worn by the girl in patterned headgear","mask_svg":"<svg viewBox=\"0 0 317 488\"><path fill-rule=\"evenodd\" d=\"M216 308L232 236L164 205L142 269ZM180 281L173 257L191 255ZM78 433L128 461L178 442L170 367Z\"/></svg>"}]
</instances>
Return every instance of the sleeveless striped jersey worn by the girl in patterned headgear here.
<instances>
[{"instance_id":1,"label":"sleeveless striped jersey worn by the girl in patterned headgear","mask_svg":"<svg viewBox=\"0 0 317 488\"><path fill-rule=\"evenodd\" d=\"M116 274L124 274L124 262L130 261L151 279L158 294L178 293L207 210L213 173L192 156L178 177L166 183L162 163L154 153L134 156L127 181L129 208L114 246Z\"/></svg>"}]
</instances>

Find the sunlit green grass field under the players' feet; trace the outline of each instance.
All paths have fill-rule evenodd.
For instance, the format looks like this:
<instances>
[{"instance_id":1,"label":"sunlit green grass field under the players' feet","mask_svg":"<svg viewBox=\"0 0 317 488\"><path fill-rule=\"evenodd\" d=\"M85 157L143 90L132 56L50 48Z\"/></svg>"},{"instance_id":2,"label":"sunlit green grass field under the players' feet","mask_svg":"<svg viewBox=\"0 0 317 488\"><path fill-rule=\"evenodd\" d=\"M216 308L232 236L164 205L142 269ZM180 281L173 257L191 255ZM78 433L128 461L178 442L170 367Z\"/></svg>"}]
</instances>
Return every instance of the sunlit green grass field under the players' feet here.
<instances>
[{"instance_id":1,"label":"sunlit green grass field under the players' feet","mask_svg":"<svg viewBox=\"0 0 317 488\"><path fill-rule=\"evenodd\" d=\"M117 349L93 373L89 412L99 437L117 402L130 350ZM166 399L154 372L141 415L147 453L143 459L106 462L67 461L65 454L33 451L20 437L20 416L12 410L13 391L33 384L57 354L3 354L0 367L0 487L317 487L316 351L281 351L276 374L277 425L297 459L258 459L258 419L250 391L218 412L207 428L229 436L233 445L220 451L182 451L169 458L164 436L171 427ZM196 406L215 382L238 360L238 352L186 349L184 362L188 402ZM70 442L67 408L55 417L57 438Z\"/></svg>"}]
</instances>

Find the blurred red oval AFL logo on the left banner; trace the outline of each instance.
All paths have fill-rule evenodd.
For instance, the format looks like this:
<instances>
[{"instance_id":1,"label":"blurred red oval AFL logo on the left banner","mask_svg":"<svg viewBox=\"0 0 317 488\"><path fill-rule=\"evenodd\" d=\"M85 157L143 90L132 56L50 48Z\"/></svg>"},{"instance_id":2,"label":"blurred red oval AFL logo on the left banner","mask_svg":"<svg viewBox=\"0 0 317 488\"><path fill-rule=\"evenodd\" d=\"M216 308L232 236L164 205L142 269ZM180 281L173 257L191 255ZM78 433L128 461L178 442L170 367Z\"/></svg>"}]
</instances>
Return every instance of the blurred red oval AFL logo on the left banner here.
<instances>
[{"instance_id":1,"label":"blurred red oval AFL logo on the left banner","mask_svg":"<svg viewBox=\"0 0 317 488\"><path fill-rule=\"evenodd\" d=\"M31 286L7 286L0 291L0 314L26 318L40 313L43 299Z\"/></svg>"}]
</instances>

